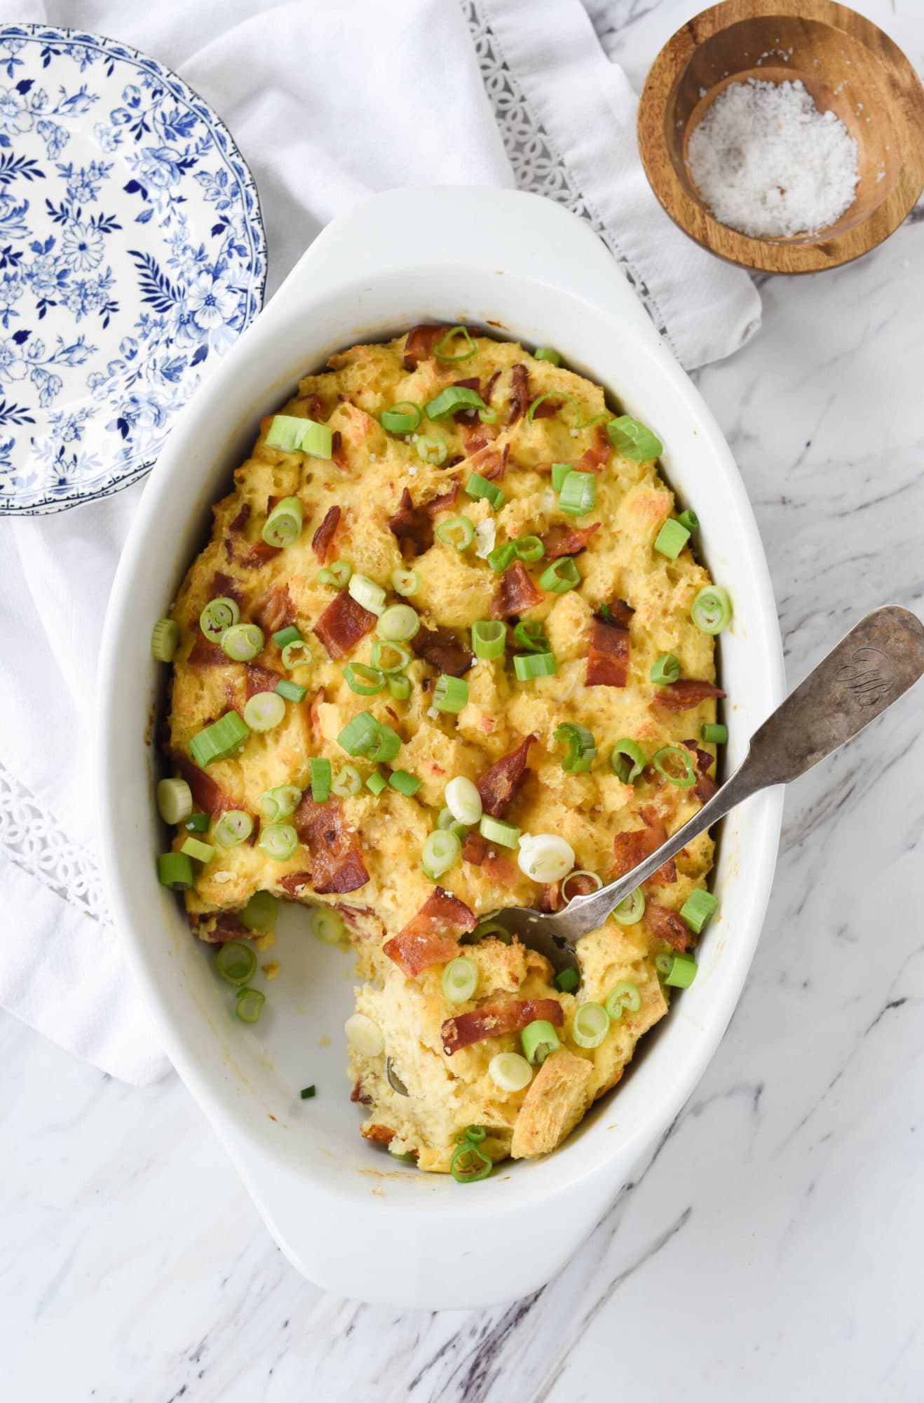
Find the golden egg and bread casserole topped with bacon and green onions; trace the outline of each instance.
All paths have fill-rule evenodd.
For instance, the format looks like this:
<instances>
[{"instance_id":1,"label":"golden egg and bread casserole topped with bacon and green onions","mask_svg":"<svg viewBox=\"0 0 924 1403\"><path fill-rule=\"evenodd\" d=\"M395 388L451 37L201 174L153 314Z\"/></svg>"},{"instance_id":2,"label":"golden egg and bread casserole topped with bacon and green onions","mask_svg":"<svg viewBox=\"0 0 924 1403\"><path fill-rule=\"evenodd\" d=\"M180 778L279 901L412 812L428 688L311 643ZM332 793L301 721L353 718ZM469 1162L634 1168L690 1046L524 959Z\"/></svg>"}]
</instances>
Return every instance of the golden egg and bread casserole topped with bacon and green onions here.
<instances>
[{"instance_id":1,"label":"golden egg and bread casserole topped with bacon and green onions","mask_svg":"<svg viewBox=\"0 0 924 1403\"><path fill-rule=\"evenodd\" d=\"M630 871L715 788L728 595L659 453L555 352L352 347L264 421L156 631L161 880L238 985L278 899L349 937L360 1131L425 1170L555 1149L695 974L708 835L579 941L579 984L488 919Z\"/></svg>"}]
</instances>

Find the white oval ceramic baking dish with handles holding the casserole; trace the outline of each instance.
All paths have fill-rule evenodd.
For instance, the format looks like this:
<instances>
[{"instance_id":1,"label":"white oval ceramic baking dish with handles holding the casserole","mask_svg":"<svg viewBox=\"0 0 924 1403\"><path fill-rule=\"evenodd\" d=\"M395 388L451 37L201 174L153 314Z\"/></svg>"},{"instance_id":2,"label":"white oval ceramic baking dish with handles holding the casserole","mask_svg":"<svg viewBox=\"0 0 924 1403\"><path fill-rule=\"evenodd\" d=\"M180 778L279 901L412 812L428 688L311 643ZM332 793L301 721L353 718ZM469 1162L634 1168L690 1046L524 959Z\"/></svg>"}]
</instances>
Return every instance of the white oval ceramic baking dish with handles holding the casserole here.
<instances>
[{"instance_id":1,"label":"white oval ceramic baking dish with handles holding the casserole","mask_svg":"<svg viewBox=\"0 0 924 1403\"><path fill-rule=\"evenodd\" d=\"M701 519L735 622L722 636L728 763L777 706L784 672L767 565L722 435L589 227L513 191L432 188L377 195L337 219L181 415L150 476L112 591L100 664L101 829L109 895L164 1045L209 1117L276 1242L304 1275L348 1296L468 1308L545 1282L688 1097L732 1014L773 878L782 796L725 822L721 918L700 975L644 1042L631 1072L544 1160L502 1164L477 1186L421 1174L359 1135L342 1024L352 960L287 911L255 1028L229 1014L208 951L157 884L164 835L153 804L150 716L163 672L150 623L202 544L261 415L337 348L421 320L491 323L554 345L656 431L665 471ZM329 1037L329 1045L324 1040ZM314 1100L299 1089L317 1083ZM464 1202L463 1202L464 1201ZM466 1232L458 1233L464 1214Z\"/></svg>"}]
</instances>

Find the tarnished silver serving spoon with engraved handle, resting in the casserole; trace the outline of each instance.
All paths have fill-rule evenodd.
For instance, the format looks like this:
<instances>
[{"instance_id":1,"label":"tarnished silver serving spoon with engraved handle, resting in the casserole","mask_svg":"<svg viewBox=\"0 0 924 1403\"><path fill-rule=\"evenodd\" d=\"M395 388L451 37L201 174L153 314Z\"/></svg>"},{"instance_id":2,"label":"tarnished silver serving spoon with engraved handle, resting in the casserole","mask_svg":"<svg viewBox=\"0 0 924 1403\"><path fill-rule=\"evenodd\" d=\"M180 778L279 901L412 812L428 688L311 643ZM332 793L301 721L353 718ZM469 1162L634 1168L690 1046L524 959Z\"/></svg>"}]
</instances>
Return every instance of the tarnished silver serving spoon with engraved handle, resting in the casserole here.
<instances>
[{"instance_id":1,"label":"tarnished silver serving spoon with engraved handle, resting in the casserole","mask_svg":"<svg viewBox=\"0 0 924 1403\"><path fill-rule=\"evenodd\" d=\"M723 818L736 804L773 784L796 780L826 755L852 741L924 673L924 624L897 605L867 615L752 737L747 755L698 814L625 877L565 911L547 915L530 906L505 906L491 918L545 955L557 971L578 974L575 940L596 930L614 906L662 863Z\"/></svg>"}]
</instances>

